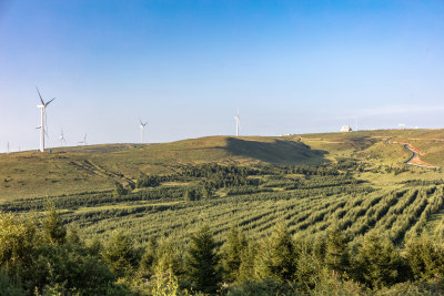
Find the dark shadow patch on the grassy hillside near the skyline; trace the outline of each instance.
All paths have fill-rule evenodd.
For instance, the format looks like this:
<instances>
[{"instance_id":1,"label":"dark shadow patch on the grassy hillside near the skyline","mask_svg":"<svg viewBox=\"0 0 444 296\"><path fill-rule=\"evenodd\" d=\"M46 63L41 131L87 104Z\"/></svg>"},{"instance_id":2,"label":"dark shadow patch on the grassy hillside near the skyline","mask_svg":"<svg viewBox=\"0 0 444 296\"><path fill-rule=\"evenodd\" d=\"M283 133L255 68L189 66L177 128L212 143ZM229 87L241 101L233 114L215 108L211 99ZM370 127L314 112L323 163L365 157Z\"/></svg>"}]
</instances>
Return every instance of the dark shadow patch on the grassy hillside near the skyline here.
<instances>
[{"instance_id":1,"label":"dark shadow patch on the grassy hillside near the skyline","mask_svg":"<svg viewBox=\"0 0 444 296\"><path fill-rule=\"evenodd\" d=\"M275 140L274 142L246 141L229 137L226 150L234 154L278 165L319 165L327 163L327 151L312 150L301 142Z\"/></svg>"}]
</instances>

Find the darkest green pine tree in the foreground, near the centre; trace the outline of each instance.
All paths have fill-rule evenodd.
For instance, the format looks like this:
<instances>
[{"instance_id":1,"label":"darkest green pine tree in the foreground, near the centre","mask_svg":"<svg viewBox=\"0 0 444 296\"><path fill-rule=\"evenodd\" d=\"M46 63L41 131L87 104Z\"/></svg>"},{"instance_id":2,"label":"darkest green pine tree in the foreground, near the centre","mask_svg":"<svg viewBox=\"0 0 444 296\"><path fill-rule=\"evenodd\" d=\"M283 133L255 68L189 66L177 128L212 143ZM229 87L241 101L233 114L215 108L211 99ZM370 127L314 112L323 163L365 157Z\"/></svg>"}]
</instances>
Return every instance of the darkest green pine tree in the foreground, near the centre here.
<instances>
[{"instance_id":1,"label":"darkest green pine tree in the foreground, near the centre","mask_svg":"<svg viewBox=\"0 0 444 296\"><path fill-rule=\"evenodd\" d=\"M188 276L195 289L204 293L214 293L218 289L221 280L218 264L213 235L210 227L204 226L191 236L186 256Z\"/></svg>"}]
</instances>

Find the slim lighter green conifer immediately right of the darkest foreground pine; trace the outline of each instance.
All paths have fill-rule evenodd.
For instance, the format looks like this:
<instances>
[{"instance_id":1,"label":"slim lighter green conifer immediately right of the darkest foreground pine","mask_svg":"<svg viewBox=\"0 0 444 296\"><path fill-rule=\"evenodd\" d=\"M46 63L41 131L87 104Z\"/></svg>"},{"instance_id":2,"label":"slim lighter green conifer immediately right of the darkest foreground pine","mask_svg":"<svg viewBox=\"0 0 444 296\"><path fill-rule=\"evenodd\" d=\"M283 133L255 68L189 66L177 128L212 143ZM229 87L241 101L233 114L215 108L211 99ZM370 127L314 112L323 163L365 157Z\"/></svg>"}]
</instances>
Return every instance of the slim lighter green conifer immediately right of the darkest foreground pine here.
<instances>
[{"instance_id":1,"label":"slim lighter green conifer immediately right of the darkest foreground pine","mask_svg":"<svg viewBox=\"0 0 444 296\"><path fill-rule=\"evenodd\" d=\"M222 266L228 282L234 282L239 277L242 254L248 247L245 235L234 227L230 231L222 251Z\"/></svg>"}]
</instances>

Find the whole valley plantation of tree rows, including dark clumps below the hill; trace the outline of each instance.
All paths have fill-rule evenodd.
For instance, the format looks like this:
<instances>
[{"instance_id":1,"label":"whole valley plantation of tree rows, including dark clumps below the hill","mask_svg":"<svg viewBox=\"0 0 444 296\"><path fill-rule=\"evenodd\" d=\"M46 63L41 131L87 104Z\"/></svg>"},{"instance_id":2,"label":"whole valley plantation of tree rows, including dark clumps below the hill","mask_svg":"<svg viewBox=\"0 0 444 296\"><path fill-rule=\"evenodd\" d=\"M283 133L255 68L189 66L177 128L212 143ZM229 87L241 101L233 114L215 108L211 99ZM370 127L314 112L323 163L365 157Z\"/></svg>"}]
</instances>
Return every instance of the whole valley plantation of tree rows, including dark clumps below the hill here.
<instances>
[{"instance_id":1,"label":"whole valley plantation of tree rows, including dark clumps below the hill","mask_svg":"<svg viewBox=\"0 0 444 296\"><path fill-rule=\"evenodd\" d=\"M61 211L64 222L79 227L85 238L107 239L114 229L123 229L141 244L152 236L172 236L186 243L202 224L211 225L220 243L233 225L260 238L270 234L276 221L284 221L295 236L322 234L335 224L349 241L362 242L366 233L374 231L396 245L424 229L444 228L441 223L435 223L433 229L427 226L431 216L437 217L443 208L444 185L406 183L397 190L377 190L354 178L353 165L345 167L349 171L239 170L210 165L159 178L179 182L175 185L155 182L153 187L118 195L111 191L87 192L18 200L0 206L4 212L39 213L51 202ZM228 182L232 180L243 181ZM211 197L184 198L190 190L198 191L212 183L219 185L210 188Z\"/></svg>"}]
</instances>

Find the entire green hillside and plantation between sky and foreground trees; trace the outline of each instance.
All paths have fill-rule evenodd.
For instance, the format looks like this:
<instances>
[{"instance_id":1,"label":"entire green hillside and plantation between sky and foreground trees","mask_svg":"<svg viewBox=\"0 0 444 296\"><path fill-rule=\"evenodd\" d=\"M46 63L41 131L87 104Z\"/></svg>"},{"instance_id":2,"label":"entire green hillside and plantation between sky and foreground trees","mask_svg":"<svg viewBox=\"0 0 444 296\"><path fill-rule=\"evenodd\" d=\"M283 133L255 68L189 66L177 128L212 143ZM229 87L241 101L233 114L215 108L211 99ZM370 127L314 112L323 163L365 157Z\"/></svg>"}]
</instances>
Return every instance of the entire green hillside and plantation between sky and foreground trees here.
<instances>
[{"instance_id":1,"label":"entire green hillside and plantation between sky and foreground trees","mask_svg":"<svg viewBox=\"0 0 444 296\"><path fill-rule=\"evenodd\" d=\"M295 241L336 227L351 249L375 234L396 249L444 238L444 130L281 137L211 136L0 156L0 210L40 220L53 204L82 239L123 231L143 249L170 237L179 254L210 225L218 247L236 226L251 241L284 223ZM390 141L387 141L390 140ZM418 147L438 169L404 164Z\"/></svg>"}]
</instances>

